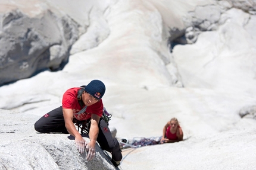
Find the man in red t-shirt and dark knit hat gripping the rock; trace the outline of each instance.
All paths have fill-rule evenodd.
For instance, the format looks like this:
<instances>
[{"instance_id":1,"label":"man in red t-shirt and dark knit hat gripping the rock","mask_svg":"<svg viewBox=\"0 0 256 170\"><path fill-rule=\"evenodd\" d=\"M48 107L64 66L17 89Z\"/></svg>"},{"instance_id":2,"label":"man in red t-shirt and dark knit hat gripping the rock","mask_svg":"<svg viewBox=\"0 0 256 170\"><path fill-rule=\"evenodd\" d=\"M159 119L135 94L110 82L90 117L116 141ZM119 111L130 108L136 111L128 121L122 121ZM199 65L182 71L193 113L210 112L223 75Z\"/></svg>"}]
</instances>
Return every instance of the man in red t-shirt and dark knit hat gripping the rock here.
<instances>
[{"instance_id":1,"label":"man in red t-shirt and dark knit hat gripping the rock","mask_svg":"<svg viewBox=\"0 0 256 170\"><path fill-rule=\"evenodd\" d=\"M70 133L80 153L88 152L90 161L95 156L96 141L102 149L112 154L112 163L118 166L122 159L120 145L113 138L108 124L102 118L102 97L105 85L99 80L91 81L87 86L70 88L64 95L62 106L46 113L35 123L35 130L40 133ZM76 129L74 123L86 121L89 128L90 142L87 143Z\"/></svg>"}]
</instances>

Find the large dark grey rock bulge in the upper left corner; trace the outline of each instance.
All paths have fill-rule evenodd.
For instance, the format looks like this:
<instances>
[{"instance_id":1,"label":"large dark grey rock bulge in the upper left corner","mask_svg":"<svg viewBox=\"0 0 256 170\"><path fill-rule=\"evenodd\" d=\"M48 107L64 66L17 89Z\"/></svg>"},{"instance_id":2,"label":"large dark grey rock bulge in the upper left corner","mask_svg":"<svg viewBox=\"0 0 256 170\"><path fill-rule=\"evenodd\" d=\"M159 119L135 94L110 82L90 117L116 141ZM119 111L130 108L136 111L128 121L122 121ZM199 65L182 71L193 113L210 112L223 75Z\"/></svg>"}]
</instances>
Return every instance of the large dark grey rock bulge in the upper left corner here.
<instances>
[{"instance_id":1,"label":"large dark grey rock bulge in the upper left corner","mask_svg":"<svg viewBox=\"0 0 256 170\"><path fill-rule=\"evenodd\" d=\"M33 8L34 4L27 5ZM30 16L17 6L5 9L0 17L0 84L28 78L43 69L61 68L79 37L79 24L48 8Z\"/></svg>"}]
</instances>

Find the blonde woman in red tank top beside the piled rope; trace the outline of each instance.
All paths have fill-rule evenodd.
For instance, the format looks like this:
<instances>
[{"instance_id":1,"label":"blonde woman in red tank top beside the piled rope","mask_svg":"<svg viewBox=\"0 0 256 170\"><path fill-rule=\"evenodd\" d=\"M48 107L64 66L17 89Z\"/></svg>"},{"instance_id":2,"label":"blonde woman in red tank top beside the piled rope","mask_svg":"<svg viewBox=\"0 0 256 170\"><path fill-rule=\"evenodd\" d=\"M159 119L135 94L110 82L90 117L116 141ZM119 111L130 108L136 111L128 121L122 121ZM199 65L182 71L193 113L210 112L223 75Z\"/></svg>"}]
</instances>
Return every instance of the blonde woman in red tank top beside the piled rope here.
<instances>
[{"instance_id":1,"label":"blonde woman in red tank top beside the piled rope","mask_svg":"<svg viewBox=\"0 0 256 170\"><path fill-rule=\"evenodd\" d=\"M163 129L163 136L160 143L179 142L183 140L183 131L177 118L173 117L167 122Z\"/></svg>"}]
</instances>

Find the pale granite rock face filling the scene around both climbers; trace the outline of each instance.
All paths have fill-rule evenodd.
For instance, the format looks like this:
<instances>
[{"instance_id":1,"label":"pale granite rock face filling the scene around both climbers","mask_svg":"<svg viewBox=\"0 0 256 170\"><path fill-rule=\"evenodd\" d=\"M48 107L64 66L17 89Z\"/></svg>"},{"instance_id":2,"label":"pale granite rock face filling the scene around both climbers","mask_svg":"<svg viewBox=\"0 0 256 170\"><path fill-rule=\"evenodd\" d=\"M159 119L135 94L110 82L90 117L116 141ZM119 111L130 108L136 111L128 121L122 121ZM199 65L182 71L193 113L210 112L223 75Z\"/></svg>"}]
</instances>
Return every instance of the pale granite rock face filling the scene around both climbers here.
<instances>
[{"instance_id":1,"label":"pale granite rock face filling the scene around both climbers","mask_svg":"<svg viewBox=\"0 0 256 170\"><path fill-rule=\"evenodd\" d=\"M68 88L92 79L106 85L118 138L161 136L177 117L188 139L122 152L123 169L165 169L163 153L173 169L254 168L255 1L19 2L0 1L0 82L18 80L0 88L10 110L0 112L2 169L113 168L98 147L86 162L69 135L33 129ZM21 79L39 69L48 70Z\"/></svg>"}]
</instances>

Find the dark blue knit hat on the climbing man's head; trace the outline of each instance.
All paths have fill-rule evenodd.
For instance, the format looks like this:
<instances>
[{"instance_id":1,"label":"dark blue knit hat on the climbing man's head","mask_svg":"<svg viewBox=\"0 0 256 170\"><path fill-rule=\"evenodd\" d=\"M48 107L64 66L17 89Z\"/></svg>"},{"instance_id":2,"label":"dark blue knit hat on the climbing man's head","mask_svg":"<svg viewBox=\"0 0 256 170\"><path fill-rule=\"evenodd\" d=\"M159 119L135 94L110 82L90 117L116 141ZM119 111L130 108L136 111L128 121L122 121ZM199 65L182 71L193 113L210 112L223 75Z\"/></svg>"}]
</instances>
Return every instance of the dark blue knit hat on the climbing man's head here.
<instances>
[{"instance_id":1,"label":"dark blue knit hat on the climbing man's head","mask_svg":"<svg viewBox=\"0 0 256 170\"><path fill-rule=\"evenodd\" d=\"M100 100L105 94L105 85L102 81L93 80L87 86L85 86L85 91L90 95Z\"/></svg>"}]
</instances>

